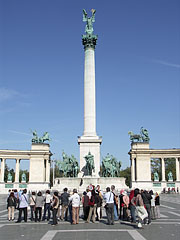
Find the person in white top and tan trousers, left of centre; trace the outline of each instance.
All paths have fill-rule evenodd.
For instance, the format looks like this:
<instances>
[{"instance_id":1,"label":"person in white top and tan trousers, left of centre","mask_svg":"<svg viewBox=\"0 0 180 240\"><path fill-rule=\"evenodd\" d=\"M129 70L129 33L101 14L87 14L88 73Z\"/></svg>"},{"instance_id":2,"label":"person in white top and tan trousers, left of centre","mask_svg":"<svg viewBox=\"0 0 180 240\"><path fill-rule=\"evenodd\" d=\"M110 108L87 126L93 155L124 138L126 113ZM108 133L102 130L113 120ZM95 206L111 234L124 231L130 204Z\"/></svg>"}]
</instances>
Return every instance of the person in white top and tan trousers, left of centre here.
<instances>
[{"instance_id":1,"label":"person in white top and tan trousers, left of centre","mask_svg":"<svg viewBox=\"0 0 180 240\"><path fill-rule=\"evenodd\" d=\"M72 201L72 224L78 224L80 196L77 193L77 189L73 189L73 195L69 198L69 201Z\"/></svg>"}]
</instances>

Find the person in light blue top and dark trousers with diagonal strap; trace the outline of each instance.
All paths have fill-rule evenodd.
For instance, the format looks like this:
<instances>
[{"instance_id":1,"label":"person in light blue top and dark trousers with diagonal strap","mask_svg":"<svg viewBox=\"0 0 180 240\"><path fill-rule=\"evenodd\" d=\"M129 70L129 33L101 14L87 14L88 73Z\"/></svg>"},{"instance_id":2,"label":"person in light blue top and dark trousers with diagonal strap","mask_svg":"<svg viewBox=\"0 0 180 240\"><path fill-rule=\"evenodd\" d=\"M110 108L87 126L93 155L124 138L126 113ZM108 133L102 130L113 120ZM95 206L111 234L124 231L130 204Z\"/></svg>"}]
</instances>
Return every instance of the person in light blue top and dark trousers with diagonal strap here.
<instances>
[{"instance_id":1,"label":"person in light blue top and dark trousers with diagonal strap","mask_svg":"<svg viewBox=\"0 0 180 240\"><path fill-rule=\"evenodd\" d=\"M27 207L28 207L28 196L27 190L24 189L19 197L19 216L16 223L21 222L22 212L24 214L24 222L27 222Z\"/></svg>"}]
</instances>

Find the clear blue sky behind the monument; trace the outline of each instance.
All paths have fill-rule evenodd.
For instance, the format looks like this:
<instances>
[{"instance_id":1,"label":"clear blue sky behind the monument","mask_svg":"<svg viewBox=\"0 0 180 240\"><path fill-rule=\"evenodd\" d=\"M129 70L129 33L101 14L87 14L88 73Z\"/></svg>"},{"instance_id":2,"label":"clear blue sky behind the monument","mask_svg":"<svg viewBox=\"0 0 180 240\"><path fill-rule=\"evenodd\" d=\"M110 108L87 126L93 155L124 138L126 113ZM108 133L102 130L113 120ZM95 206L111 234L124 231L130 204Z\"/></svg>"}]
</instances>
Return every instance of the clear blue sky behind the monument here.
<instances>
[{"instance_id":1,"label":"clear blue sky behind the monument","mask_svg":"<svg viewBox=\"0 0 180 240\"><path fill-rule=\"evenodd\" d=\"M129 166L128 131L141 126L151 148L179 148L180 1L0 0L0 149L30 149L36 129L50 133L54 158L79 159L83 8L97 11L101 156Z\"/></svg>"}]
</instances>

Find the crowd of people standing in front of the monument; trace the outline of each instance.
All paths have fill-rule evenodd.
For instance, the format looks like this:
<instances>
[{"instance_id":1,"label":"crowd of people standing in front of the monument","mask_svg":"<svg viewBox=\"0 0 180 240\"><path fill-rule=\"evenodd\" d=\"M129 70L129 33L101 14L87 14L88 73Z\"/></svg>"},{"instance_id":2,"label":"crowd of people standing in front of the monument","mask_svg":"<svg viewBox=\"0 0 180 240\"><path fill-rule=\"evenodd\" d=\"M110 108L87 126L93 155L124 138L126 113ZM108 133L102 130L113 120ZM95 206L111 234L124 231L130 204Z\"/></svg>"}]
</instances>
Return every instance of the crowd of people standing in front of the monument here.
<instances>
[{"instance_id":1,"label":"crowd of people standing in front of the monument","mask_svg":"<svg viewBox=\"0 0 180 240\"><path fill-rule=\"evenodd\" d=\"M138 228L142 224L150 225L151 221L160 218L160 196L153 191L140 190L138 188L127 192L121 190L118 193L115 186L107 187L103 192L100 186L96 187L90 184L83 194L78 194L77 189L69 192L64 188L63 193L47 190L44 193L31 192L27 190L17 192L10 190L7 198L8 220L14 221L14 211L19 210L17 223L28 219L28 207L30 207L30 220L35 222L45 221L52 225L58 224L58 221L70 221L75 225L79 223L80 207L83 209L83 220L86 223L104 221L102 218L103 209L107 216L107 224L114 225L115 221L123 220L137 223Z\"/></svg>"}]
</instances>

